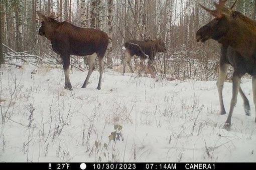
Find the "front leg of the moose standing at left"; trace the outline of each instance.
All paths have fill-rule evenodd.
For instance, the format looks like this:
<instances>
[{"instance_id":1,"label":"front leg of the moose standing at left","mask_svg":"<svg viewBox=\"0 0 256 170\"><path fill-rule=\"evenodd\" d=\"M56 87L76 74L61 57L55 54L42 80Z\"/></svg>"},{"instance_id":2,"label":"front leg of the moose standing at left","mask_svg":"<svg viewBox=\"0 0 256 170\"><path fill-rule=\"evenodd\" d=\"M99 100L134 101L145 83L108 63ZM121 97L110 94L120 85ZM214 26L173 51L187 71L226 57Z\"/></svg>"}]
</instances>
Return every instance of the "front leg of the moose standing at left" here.
<instances>
[{"instance_id":1,"label":"front leg of the moose standing at left","mask_svg":"<svg viewBox=\"0 0 256 170\"><path fill-rule=\"evenodd\" d=\"M64 75L65 75L65 89L72 90L72 85L69 79L69 64L70 64L70 56L61 56L61 61L63 65Z\"/></svg>"}]
</instances>

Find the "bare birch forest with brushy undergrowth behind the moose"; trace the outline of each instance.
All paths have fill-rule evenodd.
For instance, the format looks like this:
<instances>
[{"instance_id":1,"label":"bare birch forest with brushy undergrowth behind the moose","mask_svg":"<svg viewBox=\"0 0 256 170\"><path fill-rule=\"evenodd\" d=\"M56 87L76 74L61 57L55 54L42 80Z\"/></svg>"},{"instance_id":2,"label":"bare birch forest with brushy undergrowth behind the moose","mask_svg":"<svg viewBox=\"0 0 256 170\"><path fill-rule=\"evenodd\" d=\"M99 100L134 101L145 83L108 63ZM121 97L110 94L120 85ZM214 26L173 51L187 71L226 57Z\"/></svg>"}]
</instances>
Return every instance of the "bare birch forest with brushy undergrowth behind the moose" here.
<instances>
[{"instance_id":1,"label":"bare birch forest with brushy undergrowth behind the moose","mask_svg":"<svg viewBox=\"0 0 256 170\"><path fill-rule=\"evenodd\" d=\"M212 16L198 3L214 9L214 0L0 0L0 63L10 58L21 62L29 57L55 58L51 43L38 35L41 20L36 11L55 12L59 21L97 28L109 36L105 65L118 71L130 39L164 40L168 49L159 53L156 68L171 79L215 79L219 44L210 40L197 43L196 31ZM234 0L226 5L231 6ZM256 16L255 0L238 0L236 10ZM23 57L22 57L23 56ZM76 57L72 57L77 63ZM116 63L115 60L118 60ZM86 63L86 57L84 57Z\"/></svg>"}]
</instances>

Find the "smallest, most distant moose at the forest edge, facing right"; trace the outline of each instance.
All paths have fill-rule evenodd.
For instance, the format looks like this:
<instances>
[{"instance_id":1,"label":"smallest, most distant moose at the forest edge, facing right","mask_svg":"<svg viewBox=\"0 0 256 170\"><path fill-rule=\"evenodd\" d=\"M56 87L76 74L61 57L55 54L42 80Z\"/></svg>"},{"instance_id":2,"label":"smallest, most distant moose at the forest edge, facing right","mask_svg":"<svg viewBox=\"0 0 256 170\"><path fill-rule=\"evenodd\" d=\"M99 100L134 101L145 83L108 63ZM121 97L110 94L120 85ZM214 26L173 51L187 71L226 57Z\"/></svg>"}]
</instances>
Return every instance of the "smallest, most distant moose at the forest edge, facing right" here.
<instances>
[{"instance_id":1,"label":"smallest, most distant moose at the forest edge, facing right","mask_svg":"<svg viewBox=\"0 0 256 170\"><path fill-rule=\"evenodd\" d=\"M165 43L161 39L151 40L147 39L144 41L141 40L129 40L124 43L124 47L126 49L126 56L123 60L123 70L122 74L125 73L126 64L129 65L131 71L134 73L134 70L131 65L131 60L134 55L140 56L141 59L148 60L148 67L151 66L154 73L156 73L156 69L153 66L154 58L157 52L166 52Z\"/></svg>"}]
</instances>

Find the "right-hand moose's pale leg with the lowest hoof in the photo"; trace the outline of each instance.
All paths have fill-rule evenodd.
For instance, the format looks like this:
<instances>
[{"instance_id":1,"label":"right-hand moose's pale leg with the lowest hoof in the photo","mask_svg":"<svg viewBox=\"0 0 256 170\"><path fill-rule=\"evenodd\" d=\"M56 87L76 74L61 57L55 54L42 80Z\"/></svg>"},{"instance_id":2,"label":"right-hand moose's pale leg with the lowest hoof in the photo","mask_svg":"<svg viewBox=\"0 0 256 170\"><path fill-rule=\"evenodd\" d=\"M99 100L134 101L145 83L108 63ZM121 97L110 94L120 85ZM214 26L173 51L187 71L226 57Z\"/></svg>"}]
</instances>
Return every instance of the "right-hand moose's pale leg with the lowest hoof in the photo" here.
<instances>
[{"instance_id":1,"label":"right-hand moose's pale leg with the lowest hoof in the photo","mask_svg":"<svg viewBox=\"0 0 256 170\"><path fill-rule=\"evenodd\" d=\"M229 127L231 126L231 117L233 114L233 110L237 101L237 94L239 91L239 87L240 87L240 81L241 81L241 76L239 76L238 74L236 74L235 72L233 73L233 78L232 78L232 98L230 101L230 108L229 108L229 112L228 112L228 116L226 119L226 122L224 124L224 128L225 129L229 129Z\"/></svg>"}]
</instances>

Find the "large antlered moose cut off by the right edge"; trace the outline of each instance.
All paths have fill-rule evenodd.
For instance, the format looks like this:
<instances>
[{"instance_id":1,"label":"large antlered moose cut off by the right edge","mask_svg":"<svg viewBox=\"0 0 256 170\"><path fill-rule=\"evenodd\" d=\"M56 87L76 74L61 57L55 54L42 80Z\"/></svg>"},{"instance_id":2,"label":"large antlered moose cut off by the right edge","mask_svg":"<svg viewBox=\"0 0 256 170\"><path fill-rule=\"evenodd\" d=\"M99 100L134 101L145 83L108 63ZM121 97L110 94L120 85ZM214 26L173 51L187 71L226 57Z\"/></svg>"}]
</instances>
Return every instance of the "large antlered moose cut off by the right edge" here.
<instances>
[{"instance_id":1,"label":"large antlered moose cut off by the right edge","mask_svg":"<svg viewBox=\"0 0 256 170\"><path fill-rule=\"evenodd\" d=\"M216 83L219 94L220 114L226 113L222 89L227 69L229 65L234 68L232 75L232 98L228 116L223 126L223 128L228 130L231 126L231 117L237 101L238 91L243 99L245 113L250 115L249 101L240 87L241 76L245 73L252 76L253 103L256 107L256 21L246 17L239 11L233 10L236 1L230 8L225 6L226 1L219 0L219 3L214 2L215 10L199 4L214 16L214 19L198 29L196 39L197 42L214 39L221 44L219 75Z\"/></svg>"}]
</instances>

